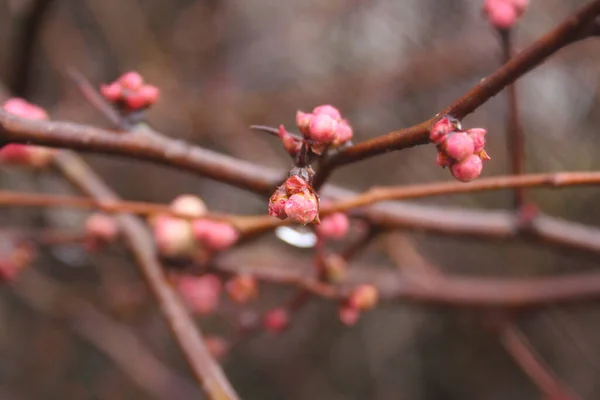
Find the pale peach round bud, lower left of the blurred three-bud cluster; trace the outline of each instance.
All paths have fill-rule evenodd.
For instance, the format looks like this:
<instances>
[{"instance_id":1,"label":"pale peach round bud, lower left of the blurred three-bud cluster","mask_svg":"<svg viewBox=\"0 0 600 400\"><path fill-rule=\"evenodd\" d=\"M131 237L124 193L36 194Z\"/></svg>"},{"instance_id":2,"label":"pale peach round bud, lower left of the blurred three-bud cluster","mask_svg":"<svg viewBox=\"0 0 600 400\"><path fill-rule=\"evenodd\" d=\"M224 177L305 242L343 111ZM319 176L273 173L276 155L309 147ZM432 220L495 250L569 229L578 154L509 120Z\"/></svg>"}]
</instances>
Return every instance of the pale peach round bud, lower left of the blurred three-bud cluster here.
<instances>
[{"instance_id":1,"label":"pale peach round bud, lower left of the blurred three-bud cluster","mask_svg":"<svg viewBox=\"0 0 600 400\"><path fill-rule=\"evenodd\" d=\"M194 250L194 234L188 221L169 215L159 215L153 225L154 240L161 255L188 256Z\"/></svg>"}]
</instances>

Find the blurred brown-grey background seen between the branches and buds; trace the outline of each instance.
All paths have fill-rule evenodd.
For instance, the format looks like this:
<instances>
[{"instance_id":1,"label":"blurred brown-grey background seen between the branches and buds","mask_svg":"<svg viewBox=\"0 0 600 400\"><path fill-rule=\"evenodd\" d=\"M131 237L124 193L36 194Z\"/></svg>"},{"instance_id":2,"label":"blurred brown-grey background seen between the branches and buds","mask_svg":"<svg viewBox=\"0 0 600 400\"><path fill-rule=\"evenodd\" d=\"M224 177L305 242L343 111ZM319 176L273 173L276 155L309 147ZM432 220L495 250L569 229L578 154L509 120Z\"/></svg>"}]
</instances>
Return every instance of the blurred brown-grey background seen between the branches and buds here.
<instances>
[{"instance_id":1,"label":"blurred brown-grey background seen between the branches and buds","mask_svg":"<svg viewBox=\"0 0 600 400\"><path fill-rule=\"evenodd\" d=\"M585 1L531 3L515 31L517 49ZM95 85L137 70L162 90L149 114L159 131L283 174L290 162L280 143L249 125L292 129L296 110L331 103L361 141L431 117L500 64L500 43L481 5L481 0L0 0L3 98L17 94L54 119L109 126L83 100L67 68ZM528 172L600 168L599 50L596 40L577 43L519 81ZM488 129L492 161L484 176L507 171L505 118L503 92L464 121ZM252 194L187 172L85 158L126 199L165 203L194 193L215 211L266 211L265 201ZM450 180L434 160L435 149L421 146L344 167L333 181L364 190ZM76 193L59 175L20 168L3 167L0 185ZM599 194L591 188L538 190L530 198L550 215L598 225ZM420 203L507 208L511 196L483 193ZM40 219L76 228L85 215L11 208L0 210L0 221L3 228L34 227ZM391 256L390 248L400 248L400 256ZM541 276L598 268L597 256L541 245L402 232L381 237L357 262L395 268L411 251L426 254L447 273ZM231 259L277 265L282 254L299 265L310 263L310 252L272 236L236 249ZM35 270L51 281L31 275L17 288L0 289L1 399L201 398L126 249L113 246L89 255L75 245L48 246ZM268 308L289 293L261 286L259 300L246 308ZM227 338L230 327L222 316L239 316L240 310L245 308L225 303L221 315L199 317L198 323L206 334ZM517 321L582 398L600 398L598 305L542 308ZM90 342L90 332L100 344ZM144 358L148 354L152 361ZM295 316L290 331L255 335L222 362L243 399L540 398L482 325L481 313L472 310L385 304L347 328L334 304L314 300ZM152 395L127 372L131 365L145 368L141 373L166 392Z\"/></svg>"}]
</instances>

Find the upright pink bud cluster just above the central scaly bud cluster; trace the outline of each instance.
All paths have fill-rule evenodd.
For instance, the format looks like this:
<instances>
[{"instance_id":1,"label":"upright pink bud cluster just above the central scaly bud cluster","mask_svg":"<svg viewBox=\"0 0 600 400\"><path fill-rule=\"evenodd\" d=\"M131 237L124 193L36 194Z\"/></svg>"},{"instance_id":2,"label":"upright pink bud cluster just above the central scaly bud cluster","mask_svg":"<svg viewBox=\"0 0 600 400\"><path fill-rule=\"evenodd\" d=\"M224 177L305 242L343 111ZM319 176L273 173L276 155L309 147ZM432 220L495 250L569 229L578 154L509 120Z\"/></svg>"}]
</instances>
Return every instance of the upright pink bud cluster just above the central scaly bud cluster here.
<instances>
[{"instance_id":1,"label":"upright pink bud cluster just above the central scaly bud cluster","mask_svg":"<svg viewBox=\"0 0 600 400\"><path fill-rule=\"evenodd\" d=\"M352 127L342 119L340 111L331 105L315 107L312 113L298 111L296 125L314 146L337 147L352 139Z\"/></svg>"}]
</instances>

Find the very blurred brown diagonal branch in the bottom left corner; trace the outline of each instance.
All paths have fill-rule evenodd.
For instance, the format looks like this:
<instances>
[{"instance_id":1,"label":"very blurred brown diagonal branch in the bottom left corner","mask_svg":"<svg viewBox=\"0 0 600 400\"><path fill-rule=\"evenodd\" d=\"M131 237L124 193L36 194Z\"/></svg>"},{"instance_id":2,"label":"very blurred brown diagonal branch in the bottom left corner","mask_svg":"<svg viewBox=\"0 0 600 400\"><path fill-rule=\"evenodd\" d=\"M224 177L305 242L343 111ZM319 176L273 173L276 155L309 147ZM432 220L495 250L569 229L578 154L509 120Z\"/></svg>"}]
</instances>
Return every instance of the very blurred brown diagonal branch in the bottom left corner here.
<instances>
[{"instance_id":1,"label":"very blurred brown diagonal branch in the bottom left corner","mask_svg":"<svg viewBox=\"0 0 600 400\"><path fill-rule=\"evenodd\" d=\"M157 359L130 329L87 301L65 294L58 283L36 270L25 271L10 288L31 308L64 322L98 348L152 398L193 399L200 394Z\"/></svg>"}]
</instances>

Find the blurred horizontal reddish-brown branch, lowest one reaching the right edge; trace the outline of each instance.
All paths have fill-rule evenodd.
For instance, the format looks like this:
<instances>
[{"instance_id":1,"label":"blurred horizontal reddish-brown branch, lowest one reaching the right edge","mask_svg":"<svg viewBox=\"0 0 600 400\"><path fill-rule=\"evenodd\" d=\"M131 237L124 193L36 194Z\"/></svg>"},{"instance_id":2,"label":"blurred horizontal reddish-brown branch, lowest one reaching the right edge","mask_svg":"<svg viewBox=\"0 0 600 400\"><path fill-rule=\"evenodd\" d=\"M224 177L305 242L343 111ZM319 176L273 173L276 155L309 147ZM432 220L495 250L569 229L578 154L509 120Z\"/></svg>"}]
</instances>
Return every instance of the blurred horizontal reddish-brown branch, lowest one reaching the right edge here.
<instances>
[{"instance_id":1,"label":"blurred horizontal reddish-brown branch, lowest one reaching the right edge","mask_svg":"<svg viewBox=\"0 0 600 400\"><path fill-rule=\"evenodd\" d=\"M330 285L307 277L307 271L269 266L219 265L228 273L244 273L273 284L292 286L330 300L343 300L351 288L375 285L385 301L448 307L525 309L600 299L600 273L574 273L558 277L477 278L436 276L422 280L397 270L367 266L350 268L343 284ZM309 274L310 275L310 274Z\"/></svg>"}]
</instances>

